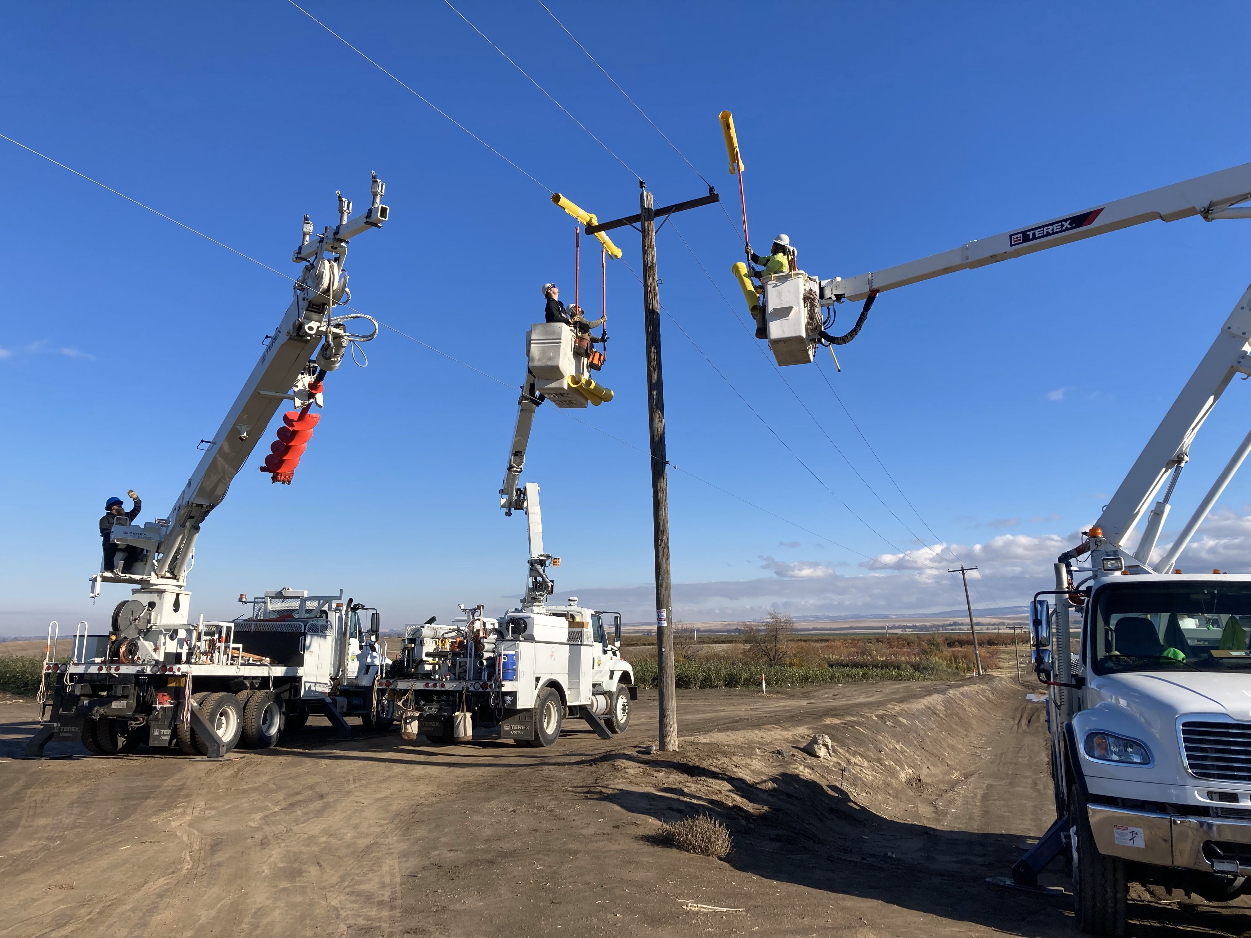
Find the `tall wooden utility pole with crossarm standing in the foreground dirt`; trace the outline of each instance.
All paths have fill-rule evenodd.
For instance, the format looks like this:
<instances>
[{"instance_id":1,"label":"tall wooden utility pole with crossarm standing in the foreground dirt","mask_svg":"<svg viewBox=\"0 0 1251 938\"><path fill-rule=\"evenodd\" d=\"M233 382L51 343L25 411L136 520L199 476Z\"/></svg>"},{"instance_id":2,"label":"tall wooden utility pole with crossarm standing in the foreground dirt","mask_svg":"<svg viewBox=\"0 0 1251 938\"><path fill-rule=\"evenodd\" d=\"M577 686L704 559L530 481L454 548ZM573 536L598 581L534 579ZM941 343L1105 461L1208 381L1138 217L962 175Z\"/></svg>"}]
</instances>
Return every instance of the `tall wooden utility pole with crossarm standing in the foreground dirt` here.
<instances>
[{"instance_id":1,"label":"tall wooden utility pole with crossarm standing in the foreground dirt","mask_svg":"<svg viewBox=\"0 0 1251 938\"><path fill-rule=\"evenodd\" d=\"M643 330L647 341L647 421L652 438L652 529L656 544L656 685L661 705L661 752L678 749L678 703L673 684L673 584L669 577L669 460L664 449L664 371L661 366L661 288L656 274L656 219L712 205L708 195L662 209L653 208L652 193L638 180L639 213L602 225L587 225L587 234L629 225L643 235ZM663 221L661 223L664 224Z\"/></svg>"}]
</instances>

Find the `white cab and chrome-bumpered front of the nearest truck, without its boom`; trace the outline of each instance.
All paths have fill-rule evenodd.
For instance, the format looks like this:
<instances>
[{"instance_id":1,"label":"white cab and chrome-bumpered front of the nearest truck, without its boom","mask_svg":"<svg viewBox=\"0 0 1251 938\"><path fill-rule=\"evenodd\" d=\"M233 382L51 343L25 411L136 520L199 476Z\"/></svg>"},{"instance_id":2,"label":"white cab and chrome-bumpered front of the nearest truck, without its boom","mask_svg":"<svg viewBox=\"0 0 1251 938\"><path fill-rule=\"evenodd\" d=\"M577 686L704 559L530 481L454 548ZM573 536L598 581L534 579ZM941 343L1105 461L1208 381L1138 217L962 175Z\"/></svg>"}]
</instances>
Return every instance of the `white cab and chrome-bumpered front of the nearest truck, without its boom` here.
<instances>
[{"instance_id":1,"label":"white cab and chrome-bumpered front of the nearest truck, without its boom","mask_svg":"<svg viewBox=\"0 0 1251 938\"><path fill-rule=\"evenodd\" d=\"M1068 675L1067 610L1036 599L1031 629L1051 687L1048 835L1067 840L1085 930L1122 934L1128 882L1210 900L1251 885L1251 575L1131 574L1100 540L1091 585L1057 593L1081 610Z\"/></svg>"}]
</instances>

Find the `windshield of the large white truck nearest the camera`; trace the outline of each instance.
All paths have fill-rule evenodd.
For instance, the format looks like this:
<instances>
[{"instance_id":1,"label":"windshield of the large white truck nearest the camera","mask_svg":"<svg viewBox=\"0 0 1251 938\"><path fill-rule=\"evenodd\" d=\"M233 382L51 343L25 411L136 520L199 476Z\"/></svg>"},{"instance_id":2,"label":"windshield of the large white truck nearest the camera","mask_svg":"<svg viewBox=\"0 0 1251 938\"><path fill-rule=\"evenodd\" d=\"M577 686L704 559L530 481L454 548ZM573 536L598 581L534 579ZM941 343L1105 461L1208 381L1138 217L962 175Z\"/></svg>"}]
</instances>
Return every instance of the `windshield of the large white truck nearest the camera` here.
<instances>
[{"instance_id":1,"label":"windshield of the large white truck nearest the camera","mask_svg":"<svg viewBox=\"0 0 1251 938\"><path fill-rule=\"evenodd\" d=\"M1251 670L1251 584L1107 585L1095 608L1096 674Z\"/></svg>"}]
</instances>

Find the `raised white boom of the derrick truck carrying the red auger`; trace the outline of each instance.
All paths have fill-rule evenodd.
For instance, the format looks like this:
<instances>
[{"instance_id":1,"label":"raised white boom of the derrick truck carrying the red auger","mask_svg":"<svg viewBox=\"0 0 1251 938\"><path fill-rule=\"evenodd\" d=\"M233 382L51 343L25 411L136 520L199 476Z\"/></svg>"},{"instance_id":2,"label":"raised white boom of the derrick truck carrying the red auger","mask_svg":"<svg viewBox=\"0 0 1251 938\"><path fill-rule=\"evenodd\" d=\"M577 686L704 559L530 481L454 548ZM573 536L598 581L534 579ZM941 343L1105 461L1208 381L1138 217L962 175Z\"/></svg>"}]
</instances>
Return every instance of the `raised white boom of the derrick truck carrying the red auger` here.
<instances>
[{"instance_id":1,"label":"raised white boom of the derrick truck carrying the red auger","mask_svg":"<svg viewBox=\"0 0 1251 938\"><path fill-rule=\"evenodd\" d=\"M155 523L114 528L115 542L148 552L143 569L101 570L91 578L93 597L99 595L101 582L135 584L135 598L150 604L154 625L186 622L190 594L184 585L201 523L225 498L230 483L283 401L295 400L298 406L310 401L320 405L320 381L339 366L349 344L368 341L378 333L378 324L363 314L333 315L335 303L350 300L348 275L343 273L348 241L363 231L382 228L389 215L382 204L385 186L378 174L373 175L370 189L370 206L355 216L352 203L338 194L339 224L328 225L315 239L313 224L308 215L304 216L303 238L291 255L294 263L304 264L304 270L295 281L290 305L264 339L260 360L213 439L203 440L209 445L169 517ZM349 333L347 324L353 319L368 319L374 331L368 335Z\"/></svg>"}]
</instances>

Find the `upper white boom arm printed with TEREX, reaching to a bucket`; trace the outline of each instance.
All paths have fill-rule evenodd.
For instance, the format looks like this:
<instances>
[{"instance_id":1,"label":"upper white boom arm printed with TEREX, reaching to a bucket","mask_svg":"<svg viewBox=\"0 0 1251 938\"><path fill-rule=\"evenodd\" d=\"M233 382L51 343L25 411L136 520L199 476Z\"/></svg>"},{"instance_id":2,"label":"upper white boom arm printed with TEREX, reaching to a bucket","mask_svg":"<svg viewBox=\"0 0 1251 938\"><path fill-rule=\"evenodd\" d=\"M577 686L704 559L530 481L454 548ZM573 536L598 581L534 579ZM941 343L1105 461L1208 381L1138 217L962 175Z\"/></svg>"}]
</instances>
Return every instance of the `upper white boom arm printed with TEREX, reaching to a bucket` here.
<instances>
[{"instance_id":1,"label":"upper white boom arm printed with TEREX, reaching to a bucket","mask_svg":"<svg viewBox=\"0 0 1251 938\"><path fill-rule=\"evenodd\" d=\"M1201 215L1205 221L1251 218L1251 208L1230 208L1246 199L1251 199L1251 163L1005 231L980 241L968 241L907 264L897 264L859 276L846 279L836 276L833 280L823 280L821 304L828 306L841 300L863 300L871 290L878 293L893 290L897 286L931 280L957 270L972 270L1083 238L1141 225L1143 221L1156 219L1176 221L1191 215Z\"/></svg>"}]
</instances>

